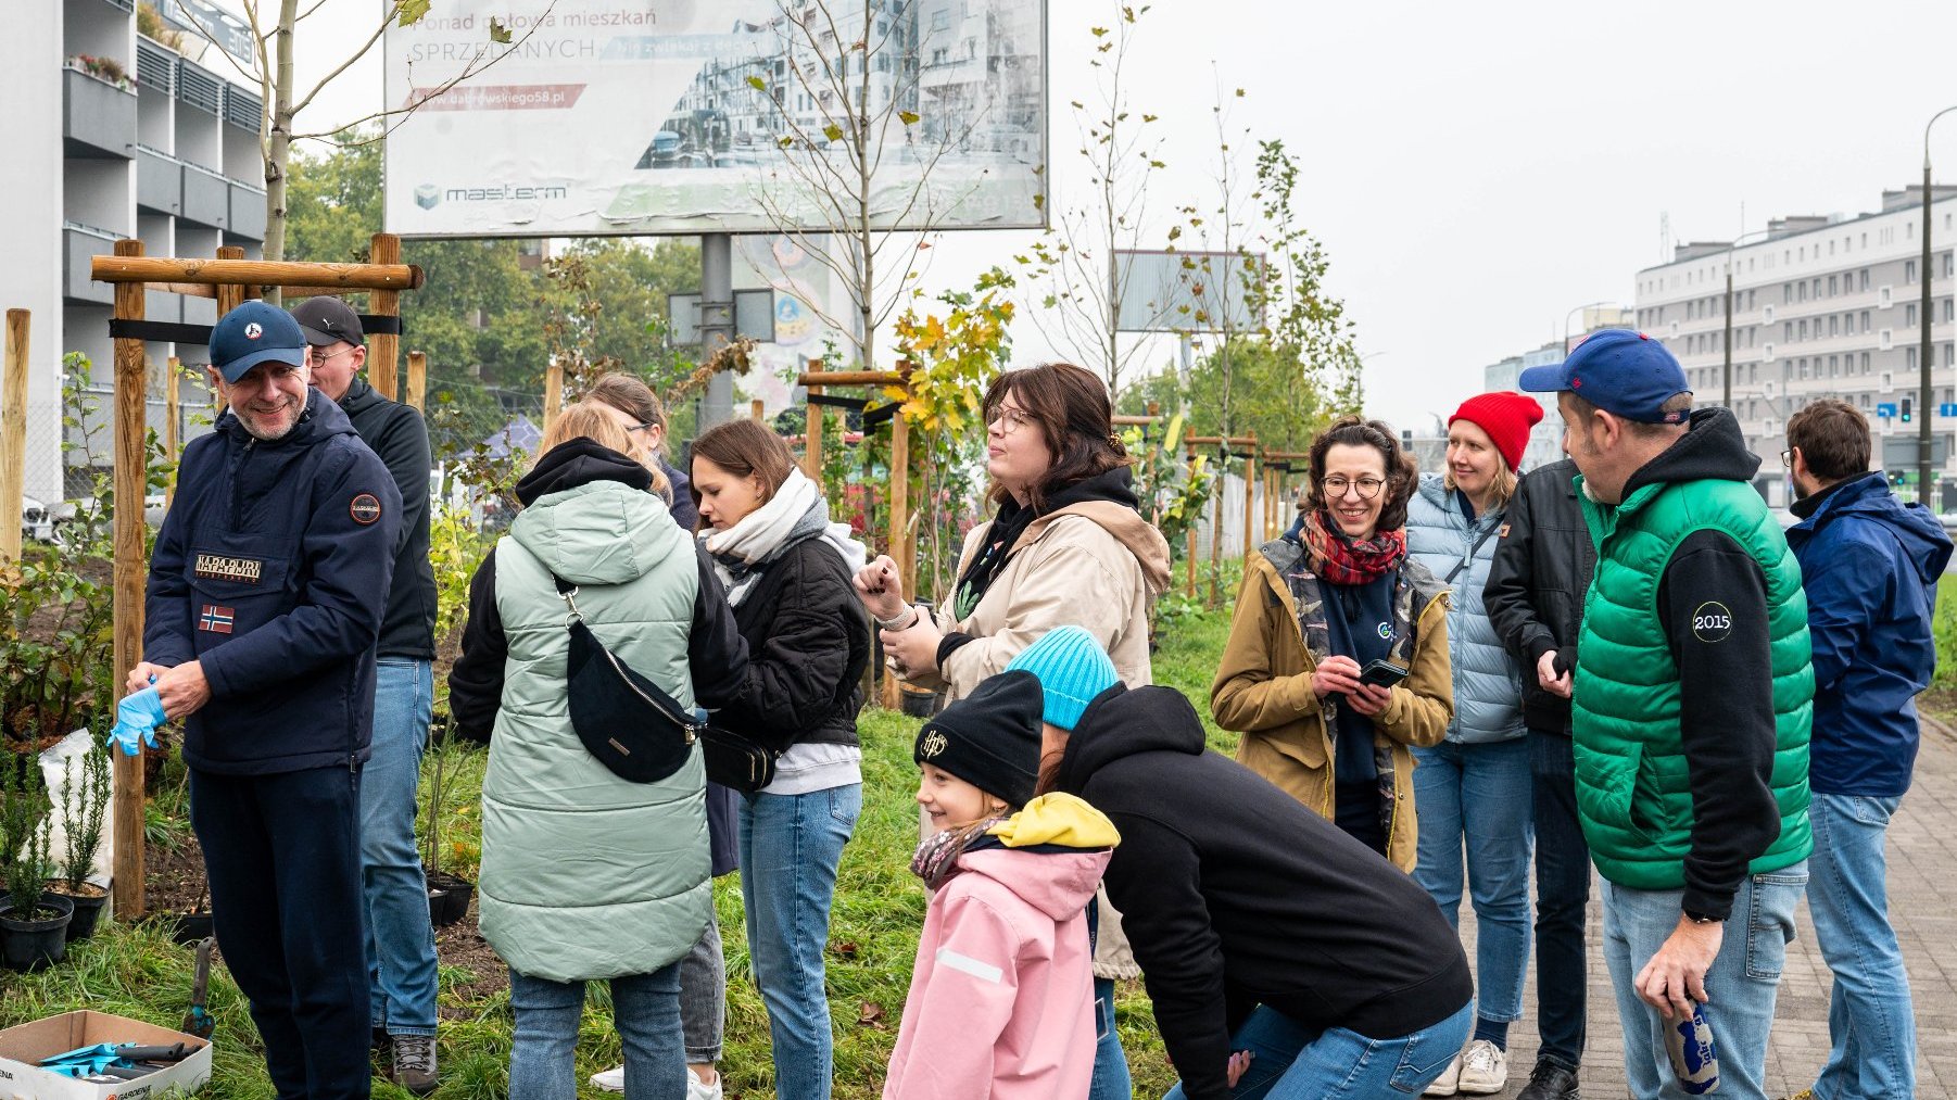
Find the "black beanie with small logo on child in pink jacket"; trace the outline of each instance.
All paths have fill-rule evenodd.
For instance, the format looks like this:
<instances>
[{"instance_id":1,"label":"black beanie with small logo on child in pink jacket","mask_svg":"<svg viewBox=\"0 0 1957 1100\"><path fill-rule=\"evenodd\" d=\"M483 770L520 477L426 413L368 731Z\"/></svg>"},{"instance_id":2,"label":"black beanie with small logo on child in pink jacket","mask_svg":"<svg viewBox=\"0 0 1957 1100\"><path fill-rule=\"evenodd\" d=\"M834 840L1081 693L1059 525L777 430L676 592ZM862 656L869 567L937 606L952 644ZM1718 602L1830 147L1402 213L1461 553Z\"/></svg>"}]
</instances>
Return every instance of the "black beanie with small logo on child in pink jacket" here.
<instances>
[{"instance_id":1,"label":"black beanie with small logo on child in pink jacket","mask_svg":"<svg viewBox=\"0 0 1957 1100\"><path fill-rule=\"evenodd\" d=\"M1043 710L1039 677L1029 671L998 673L926 722L912 759L1024 806L1039 787Z\"/></svg>"}]
</instances>

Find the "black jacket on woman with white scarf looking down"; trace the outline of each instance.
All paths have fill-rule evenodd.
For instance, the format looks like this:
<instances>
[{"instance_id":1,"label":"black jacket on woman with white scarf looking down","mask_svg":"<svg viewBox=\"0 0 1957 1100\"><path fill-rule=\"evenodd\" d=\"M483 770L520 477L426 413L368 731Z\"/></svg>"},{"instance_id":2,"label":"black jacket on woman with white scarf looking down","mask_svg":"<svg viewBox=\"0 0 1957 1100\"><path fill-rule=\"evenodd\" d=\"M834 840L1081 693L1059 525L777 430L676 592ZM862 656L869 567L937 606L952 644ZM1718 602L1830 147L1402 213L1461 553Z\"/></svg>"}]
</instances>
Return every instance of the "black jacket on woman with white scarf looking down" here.
<instances>
[{"instance_id":1,"label":"black jacket on woman with white scarf looking down","mask_svg":"<svg viewBox=\"0 0 1957 1100\"><path fill-rule=\"evenodd\" d=\"M869 619L849 568L824 538L783 550L734 609L748 640L748 679L714 724L775 750L857 744Z\"/></svg>"}]
</instances>

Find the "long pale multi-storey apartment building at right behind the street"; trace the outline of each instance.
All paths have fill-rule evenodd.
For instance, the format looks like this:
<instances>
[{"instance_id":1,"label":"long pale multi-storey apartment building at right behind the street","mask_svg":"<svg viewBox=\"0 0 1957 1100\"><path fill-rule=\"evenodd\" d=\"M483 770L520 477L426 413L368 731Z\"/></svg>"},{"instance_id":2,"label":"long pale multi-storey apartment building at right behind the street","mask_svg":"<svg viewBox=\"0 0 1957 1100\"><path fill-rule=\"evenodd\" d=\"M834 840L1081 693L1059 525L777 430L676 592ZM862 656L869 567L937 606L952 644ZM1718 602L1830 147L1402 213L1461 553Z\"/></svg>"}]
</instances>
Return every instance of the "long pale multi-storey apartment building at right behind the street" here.
<instances>
[{"instance_id":1,"label":"long pale multi-storey apartment building at right behind the street","mask_svg":"<svg viewBox=\"0 0 1957 1100\"><path fill-rule=\"evenodd\" d=\"M1953 386L1951 247L1957 245L1957 188L1932 194L1932 407L1918 407L1918 309L1926 276L1922 186L1883 192L1883 209L1863 215L1783 217L1763 241L1679 245L1669 264L1636 276L1638 329L1679 356L1699 405L1724 390L1726 270L1732 268L1732 409L1761 458L1755 485L1773 505L1787 503L1781 450L1787 417L1818 397L1842 397L1869 417L1877 462L1914 483L1914 417L1934 417L1934 458L1941 472L1934 507L1957 503ZM1904 401L1910 421L1904 423ZM1914 499L1914 493L1910 493Z\"/></svg>"}]
</instances>

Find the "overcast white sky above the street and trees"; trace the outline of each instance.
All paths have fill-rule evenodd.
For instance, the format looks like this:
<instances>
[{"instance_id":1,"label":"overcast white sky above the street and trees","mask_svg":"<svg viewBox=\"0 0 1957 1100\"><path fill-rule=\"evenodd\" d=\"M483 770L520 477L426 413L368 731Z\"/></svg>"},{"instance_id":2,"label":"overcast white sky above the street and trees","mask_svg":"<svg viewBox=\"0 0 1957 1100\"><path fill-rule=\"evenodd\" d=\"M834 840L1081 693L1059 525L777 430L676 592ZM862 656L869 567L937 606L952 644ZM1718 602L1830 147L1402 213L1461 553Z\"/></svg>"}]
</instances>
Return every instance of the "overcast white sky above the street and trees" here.
<instances>
[{"instance_id":1,"label":"overcast white sky above the street and trees","mask_svg":"<svg viewBox=\"0 0 1957 1100\"><path fill-rule=\"evenodd\" d=\"M372 10L327 0L296 39L301 74L358 45ZM1112 12L1049 0L1061 188L1067 102L1092 86L1086 27ZM378 55L301 129L374 110ZM1217 82L1247 92L1235 123L1301 157L1368 411L1423 427L1479 391L1485 364L1560 337L1573 307L1628 305L1634 272L1663 258L1661 215L1677 241L1730 239L1787 213L1875 209L1885 186L1918 182L1924 123L1957 104L1957 4L1162 0L1133 72L1135 110L1168 127L1157 207L1211 194ZM1957 180L1957 115L1932 153ZM951 235L932 282L965 286L1025 241ZM1049 352L1031 325L1016 341L1020 362Z\"/></svg>"}]
</instances>

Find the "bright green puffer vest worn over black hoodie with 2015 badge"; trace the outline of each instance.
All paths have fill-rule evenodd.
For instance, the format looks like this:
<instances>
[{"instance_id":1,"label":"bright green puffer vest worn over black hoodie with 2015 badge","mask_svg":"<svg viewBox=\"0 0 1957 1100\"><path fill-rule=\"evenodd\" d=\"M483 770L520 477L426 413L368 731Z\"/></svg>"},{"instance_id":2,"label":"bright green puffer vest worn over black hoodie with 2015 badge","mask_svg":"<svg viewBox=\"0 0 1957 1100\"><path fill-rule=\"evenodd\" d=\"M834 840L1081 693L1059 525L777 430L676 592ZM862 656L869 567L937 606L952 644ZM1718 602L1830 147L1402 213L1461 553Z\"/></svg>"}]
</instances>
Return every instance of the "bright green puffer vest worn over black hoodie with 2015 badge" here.
<instances>
[{"instance_id":1,"label":"bright green puffer vest worn over black hoodie with 2015 badge","mask_svg":"<svg viewBox=\"0 0 1957 1100\"><path fill-rule=\"evenodd\" d=\"M1575 783L1597 871L1634 891L1685 887L1693 791L1679 734L1679 669L1658 619L1658 581L1671 552L1697 530L1732 536L1767 577L1781 836L1750 873L1806 859L1814 699L1808 601L1800 566L1765 501L1746 481L1722 480L1644 485L1616 509L1579 499L1597 542L1597 575L1583 599L1577 640Z\"/></svg>"}]
</instances>

